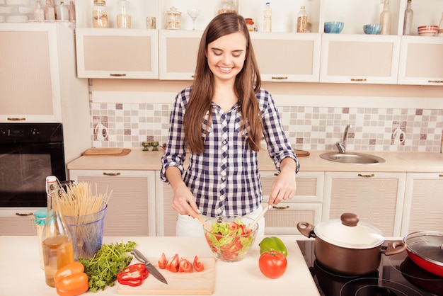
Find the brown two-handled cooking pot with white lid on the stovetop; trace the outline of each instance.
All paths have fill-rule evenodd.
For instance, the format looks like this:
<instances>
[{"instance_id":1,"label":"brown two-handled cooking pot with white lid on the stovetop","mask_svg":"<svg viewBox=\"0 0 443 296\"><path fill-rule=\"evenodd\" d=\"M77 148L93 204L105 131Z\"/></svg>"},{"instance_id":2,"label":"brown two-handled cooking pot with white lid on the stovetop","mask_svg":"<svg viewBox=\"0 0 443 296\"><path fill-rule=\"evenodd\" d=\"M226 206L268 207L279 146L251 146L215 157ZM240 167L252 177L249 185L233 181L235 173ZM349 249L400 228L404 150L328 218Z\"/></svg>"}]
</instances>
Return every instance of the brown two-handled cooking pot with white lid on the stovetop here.
<instances>
[{"instance_id":1,"label":"brown two-handled cooking pot with white lid on the stovetop","mask_svg":"<svg viewBox=\"0 0 443 296\"><path fill-rule=\"evenodd\" d=\"M403 241L384 243L383 233L370 224L359 222L357 215L344 213L340 219L321 222L316 227L299 222L297 229L305 237L314 237L315 256L332 271L364 275L379 268L381 254L399 254L406 249Z\"/></svg>"}]
</instances>

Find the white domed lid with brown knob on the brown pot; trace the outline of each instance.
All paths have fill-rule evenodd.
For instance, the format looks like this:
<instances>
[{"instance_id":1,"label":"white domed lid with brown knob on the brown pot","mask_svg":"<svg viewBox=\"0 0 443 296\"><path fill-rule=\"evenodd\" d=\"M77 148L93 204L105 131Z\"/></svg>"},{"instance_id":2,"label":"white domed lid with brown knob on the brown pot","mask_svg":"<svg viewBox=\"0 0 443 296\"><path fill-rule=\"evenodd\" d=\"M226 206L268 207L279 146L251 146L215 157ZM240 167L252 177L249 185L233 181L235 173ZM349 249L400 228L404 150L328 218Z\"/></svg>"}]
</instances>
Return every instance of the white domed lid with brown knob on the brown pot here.
<instances>
[{"instance_id":1,"label":"white domed lid with brown knob on the brown pot","mask_svg":"<svg viewBox=\"0 0 443 296\"><path fill-rule=\"evenodd\" d=\"M370 249L384 242L384 235L378 228L359 222L357 215L352 213L321 222L314 232L323 241L349 249Z\"/></svg>"}]
</instances>

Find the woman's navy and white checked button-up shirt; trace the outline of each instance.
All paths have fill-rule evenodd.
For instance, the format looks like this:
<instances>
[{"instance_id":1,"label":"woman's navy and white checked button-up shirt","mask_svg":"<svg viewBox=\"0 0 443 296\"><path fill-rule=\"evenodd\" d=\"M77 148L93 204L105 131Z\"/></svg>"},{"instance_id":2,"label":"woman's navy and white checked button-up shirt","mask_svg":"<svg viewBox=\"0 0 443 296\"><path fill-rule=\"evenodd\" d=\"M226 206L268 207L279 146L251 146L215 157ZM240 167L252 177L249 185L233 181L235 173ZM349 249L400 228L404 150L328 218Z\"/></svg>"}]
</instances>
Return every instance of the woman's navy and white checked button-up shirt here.
<instances>
[{"instance_id":1,"label":"woman's navy and white checked button-up shirt","mask_svg":"<svg viewBox=\"0 0 443 296\"><path fill-rule=\"evenodd\" d=\"M189 166L185 171L183 115L191 88L189 86L178 93L171 111L168 143L161 159L161 181L167 182L166 169L176 166L203 215L230 217L253 212L263 200L258 153L249 147L248 133L241 129L241 113L237 104L224 113L222 108L212 103L212 123L208 125L206 116L199 127L205 139L205 152L190 154ZM272 96L265 89L260 89L257 99L262 113L263 135L275 168L280 172L280 162L290 157L297 162L298 172L297 156L284 135Z\"/></svg>"}]
</instances>

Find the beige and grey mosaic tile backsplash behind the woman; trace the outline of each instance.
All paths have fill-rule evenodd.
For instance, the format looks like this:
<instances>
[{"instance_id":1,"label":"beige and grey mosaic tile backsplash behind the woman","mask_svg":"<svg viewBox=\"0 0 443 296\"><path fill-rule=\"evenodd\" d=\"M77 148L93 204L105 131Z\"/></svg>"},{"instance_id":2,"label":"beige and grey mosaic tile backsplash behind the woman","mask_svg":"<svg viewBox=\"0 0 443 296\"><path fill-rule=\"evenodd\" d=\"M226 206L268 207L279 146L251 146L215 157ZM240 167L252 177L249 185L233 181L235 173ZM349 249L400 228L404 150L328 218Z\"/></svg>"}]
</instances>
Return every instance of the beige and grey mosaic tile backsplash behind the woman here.
<instances>
[{"instance_id":1,"label":"beige and grey mosaic tile backsplash behind the woman","mask_svg":"<svg viewBox=\"0 0 443 296\"><path fill-rule=\"evenodd\" d=\"M93 147L142 147L166 142L171 104L91 103ZM414 108L279 107L294 149L330 150L352 124L347 149L441 152L443 110Z\"/></svg>"}]
</instances>

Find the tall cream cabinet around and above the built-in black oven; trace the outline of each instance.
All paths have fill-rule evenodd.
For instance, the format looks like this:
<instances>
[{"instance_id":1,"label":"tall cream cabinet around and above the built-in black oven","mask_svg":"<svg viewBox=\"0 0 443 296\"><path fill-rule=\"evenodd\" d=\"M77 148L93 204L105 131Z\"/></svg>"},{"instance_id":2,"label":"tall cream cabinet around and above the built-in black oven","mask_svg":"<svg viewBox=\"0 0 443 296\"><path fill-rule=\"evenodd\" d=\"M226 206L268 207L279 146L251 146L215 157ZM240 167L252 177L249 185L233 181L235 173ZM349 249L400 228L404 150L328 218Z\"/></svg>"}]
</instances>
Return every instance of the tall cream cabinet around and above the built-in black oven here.
<instances>
[{"instance_id":1,"label":"tall cream cabinet around and above the built-in black oven","mask_svg":"<svg viewBox=\"0 0 443 296\"><path fill-rule=\"evenodd\" d=\"M88 79L69 23L0 23L0 122L62 123L66 162L91 148Z\"/></svg>"}]
</instances>

